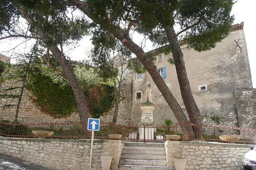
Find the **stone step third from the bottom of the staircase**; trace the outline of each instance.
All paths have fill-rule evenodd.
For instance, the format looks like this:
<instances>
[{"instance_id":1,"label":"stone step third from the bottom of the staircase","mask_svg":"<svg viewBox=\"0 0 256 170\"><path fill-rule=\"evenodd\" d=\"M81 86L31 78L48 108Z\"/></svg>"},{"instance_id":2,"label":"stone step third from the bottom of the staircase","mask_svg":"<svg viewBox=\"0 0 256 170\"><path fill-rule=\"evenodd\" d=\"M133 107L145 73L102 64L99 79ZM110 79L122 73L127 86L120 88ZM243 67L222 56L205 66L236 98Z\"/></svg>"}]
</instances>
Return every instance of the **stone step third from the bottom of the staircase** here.
<instances>
[{"instance_id":1,"label":"stone step third from the bottom of the staircase","mask_svg":"<svg viewBox=\"0 0 256 170\"><path fill-rule=\"evenodd\" d=\"M166 155L132 155L132 154L121 154L121 159L163 160L163 161L166 161Z\"/></svg>"}]
</instances>

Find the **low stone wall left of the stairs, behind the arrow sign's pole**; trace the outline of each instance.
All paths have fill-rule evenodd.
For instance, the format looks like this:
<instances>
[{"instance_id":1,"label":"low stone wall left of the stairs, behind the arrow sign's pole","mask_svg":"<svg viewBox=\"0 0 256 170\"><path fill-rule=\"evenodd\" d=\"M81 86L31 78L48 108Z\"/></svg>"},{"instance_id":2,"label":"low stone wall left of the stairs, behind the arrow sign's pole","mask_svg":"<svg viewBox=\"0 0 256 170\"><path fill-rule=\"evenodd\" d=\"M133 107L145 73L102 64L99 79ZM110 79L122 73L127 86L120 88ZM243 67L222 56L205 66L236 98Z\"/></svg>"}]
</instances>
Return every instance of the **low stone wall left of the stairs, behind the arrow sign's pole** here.
<instances>
[{"instance_id":1,"label":"low stone wall left of the stairs, behind the arrow sign's pole","mask_svg":"<svg viewBox=\"0 0 256 170\"><path fill-rule=\"evenodd\" d=\"M19 158L52 169L89 169L90 139L0 138L0 154ZM101 169L100 157L112 157L111 169L117 170L123 141L94 140L92 169Z\"/></svg>"}]
</instances>

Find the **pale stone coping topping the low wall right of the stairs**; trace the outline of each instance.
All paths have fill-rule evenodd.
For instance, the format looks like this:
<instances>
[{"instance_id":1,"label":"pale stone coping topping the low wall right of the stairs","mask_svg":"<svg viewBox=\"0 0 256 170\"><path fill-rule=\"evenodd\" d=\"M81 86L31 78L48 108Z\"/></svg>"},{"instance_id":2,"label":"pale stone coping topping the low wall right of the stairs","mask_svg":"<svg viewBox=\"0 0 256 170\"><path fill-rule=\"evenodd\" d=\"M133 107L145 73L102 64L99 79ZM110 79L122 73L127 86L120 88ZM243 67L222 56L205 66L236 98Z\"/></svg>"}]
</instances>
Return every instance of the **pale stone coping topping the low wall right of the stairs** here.
<instances>
[{"instance_id":1,"label":"pale stone coping topping the low wall right of the stairs","mask_svg":"<svg viewBox=\"0 0 256 170\"><path fill-rule=\"evenodd\" d=\"M220 142L206 142L206 141L172 141L172 140L166 140L164 142L164 145L168 144L175 144L175 145L196 145L196 146L203 146L208 145L212 147L234 147L234 148L250 148L251 146L254 146L255 144L237 144L237 143L220 143Z\"/></svg>"}]
</instances>

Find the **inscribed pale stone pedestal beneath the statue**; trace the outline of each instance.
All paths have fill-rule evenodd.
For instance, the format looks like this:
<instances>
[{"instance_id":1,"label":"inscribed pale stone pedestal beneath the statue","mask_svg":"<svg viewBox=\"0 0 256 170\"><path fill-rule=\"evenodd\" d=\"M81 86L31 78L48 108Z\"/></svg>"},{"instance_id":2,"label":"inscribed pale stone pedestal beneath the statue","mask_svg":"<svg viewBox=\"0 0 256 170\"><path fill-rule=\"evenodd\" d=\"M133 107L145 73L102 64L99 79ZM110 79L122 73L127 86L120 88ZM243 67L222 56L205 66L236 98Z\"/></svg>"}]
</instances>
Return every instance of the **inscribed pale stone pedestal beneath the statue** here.
<instances>
[{"instance_id":1,"label":"inscribed pale stone pedestal beneath the statue","mask_svg":"<svg viewBox=\"0 0 256 170\"><path fill-rule=\"evenodd\" d=\"M152 124L153 123L153 110L155 105L153 104L141 104L140 109L142 111L141 124Z\"/></svg>"}]
</instances>

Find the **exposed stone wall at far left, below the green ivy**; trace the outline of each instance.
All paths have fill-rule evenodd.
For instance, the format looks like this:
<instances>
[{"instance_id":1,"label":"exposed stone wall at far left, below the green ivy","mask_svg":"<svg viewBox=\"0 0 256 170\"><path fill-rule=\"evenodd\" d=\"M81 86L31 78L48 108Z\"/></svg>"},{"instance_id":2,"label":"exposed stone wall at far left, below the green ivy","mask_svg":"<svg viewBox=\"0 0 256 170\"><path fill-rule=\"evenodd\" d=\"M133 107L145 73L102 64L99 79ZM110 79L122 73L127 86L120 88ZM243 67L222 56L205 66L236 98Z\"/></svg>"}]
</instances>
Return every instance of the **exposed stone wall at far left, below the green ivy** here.
<instances>
[{"instance_id":1,"label":"exposed stone wall at far left, below the green ivy","mask_svg":"<svg viewBox=\"0 0 256 170\"><path fill-rule=\"evenodd\" d=\"M14 94L19 95L20 88L5 91L5 89L11 87L21 86L21 82L6 80L0 85L1 94ZM16 105L18 98L2 98L0 99L0 120L6 119L13 121L15 117ZM5 107L5 105L12 105L11 107ZM54 118L45 114L40 110L40 107L33 102L33 95L27 90L24 90L22 102L20 103L18 122L78 122L79 117L77 113L72 113L66 118Z\"/></svg>"}]
</instances>

